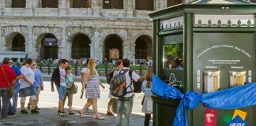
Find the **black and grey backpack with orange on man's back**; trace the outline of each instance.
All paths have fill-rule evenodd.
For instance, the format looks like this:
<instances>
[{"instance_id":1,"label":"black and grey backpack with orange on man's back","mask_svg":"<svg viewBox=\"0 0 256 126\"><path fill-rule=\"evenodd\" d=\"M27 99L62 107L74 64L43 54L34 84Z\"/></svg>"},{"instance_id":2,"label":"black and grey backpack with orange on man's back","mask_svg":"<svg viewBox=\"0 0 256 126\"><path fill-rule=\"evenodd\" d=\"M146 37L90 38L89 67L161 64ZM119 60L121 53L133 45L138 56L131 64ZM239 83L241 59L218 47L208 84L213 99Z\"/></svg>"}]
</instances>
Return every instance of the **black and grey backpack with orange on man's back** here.
<instances>
[{"instance_id":1,"label":"black and grey backpack with orange on man's back","mask_svg":"<svg viewBox=\"0 0 256 126\"><path fill-rule=\"evenodd\" d=\"M112 76L109 83L111 95L122 98L124 95L127 94L126 72L128 71L129 69L122 69L117 75Z\"/></svg>"}]
</instances>

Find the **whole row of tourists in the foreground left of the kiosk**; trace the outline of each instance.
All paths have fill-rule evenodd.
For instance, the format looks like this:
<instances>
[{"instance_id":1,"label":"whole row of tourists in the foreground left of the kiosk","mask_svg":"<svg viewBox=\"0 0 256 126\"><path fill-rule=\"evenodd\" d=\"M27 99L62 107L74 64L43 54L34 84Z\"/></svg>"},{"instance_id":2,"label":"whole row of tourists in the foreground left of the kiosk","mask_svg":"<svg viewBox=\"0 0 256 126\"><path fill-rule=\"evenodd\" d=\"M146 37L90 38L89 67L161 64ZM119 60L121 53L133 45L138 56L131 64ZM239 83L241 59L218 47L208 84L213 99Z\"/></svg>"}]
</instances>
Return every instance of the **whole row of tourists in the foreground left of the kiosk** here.
<instances>
[{"instance_id":1,"label":"whole row of tourists in the foreground left of the kiosk","mask_svg":"<svg viewBox=\"0 0 256 126\"><path fill-rule=\"evenodd\" d=\"M105 117L98 112L97 102L100 98L100 87L105 88L100 82L99 73L96 70L96 59L90 58L86 61L86 66L81 73L81 98L85 95L87 101L85 106L79 110L81 118L85 117L84 113L92 106L96 120L104 120ZM40 99L40 91L43 91L43 74L37 69L36 61L27 58L25 64L21 68L13 65L13 61L9 57L5 57L0 65L0 96L2 98L2 120L7 117L15 116L17 113L17 99L21 98L21 113L28 114L26 108L30 109L30 113L40 113L38 102ZM109 102L107 103L107 115L114 116L112 112L113 104L117 101L116 125L129 126L130 115L134 105L135 88L139 87L145 92L142 103L142 112L145 113L145 125L149 125L152 114L152 69L149 67L145 76L139 76L136 72L129 69L130 60L127 58L116 61L116 69L107 79L110 85ZM108 75L109 76L109 75ZM116 83L115 79L124 78L122 83ZM137 83L139 82L139 83ZM123 85L123 83L125 83ZM115 85L119 88L116 88ZM120 84L120 85L119 85ZM121 95L120 90L123 86ZM58 92L58 114L62 117L66 114L73 115L73 95L77 93L77 86L74 84L72 67L69 61L62 59L57 68L54 69L51 76L51 91ZM28 97L27 104L26 98ZM66 100L67 98L67 100ZM68 113L64 110L67 101ZM0 103L1 105L1 103ZM26 106L26 107L25 107ZM123 117L124 116L124 117ZM123 117L123 118L122 118ZM123 120L123 122L122 122Z\"/></svg>"}]
</instances>

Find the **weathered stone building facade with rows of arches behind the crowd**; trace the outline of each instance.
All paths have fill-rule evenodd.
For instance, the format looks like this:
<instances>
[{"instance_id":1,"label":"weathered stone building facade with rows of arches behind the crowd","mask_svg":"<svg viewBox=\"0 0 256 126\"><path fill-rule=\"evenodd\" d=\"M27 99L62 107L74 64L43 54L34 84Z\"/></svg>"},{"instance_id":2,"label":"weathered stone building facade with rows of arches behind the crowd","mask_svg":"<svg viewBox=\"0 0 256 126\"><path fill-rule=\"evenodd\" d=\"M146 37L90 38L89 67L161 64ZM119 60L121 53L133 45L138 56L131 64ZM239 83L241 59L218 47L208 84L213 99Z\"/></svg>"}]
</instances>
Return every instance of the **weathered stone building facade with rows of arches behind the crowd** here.
<instances>
[{"instance_id":1,"label":"weathered stone building facade with rows of arches behind the crowd","mask_svg":"<svg viewBox=\"0 0 256 126\"><path fill-rule=\"evenodd\" d=\"M182 0L1 0L0 51L35 59L152 55L146 13Z\"/></svg>"}]
</instances>

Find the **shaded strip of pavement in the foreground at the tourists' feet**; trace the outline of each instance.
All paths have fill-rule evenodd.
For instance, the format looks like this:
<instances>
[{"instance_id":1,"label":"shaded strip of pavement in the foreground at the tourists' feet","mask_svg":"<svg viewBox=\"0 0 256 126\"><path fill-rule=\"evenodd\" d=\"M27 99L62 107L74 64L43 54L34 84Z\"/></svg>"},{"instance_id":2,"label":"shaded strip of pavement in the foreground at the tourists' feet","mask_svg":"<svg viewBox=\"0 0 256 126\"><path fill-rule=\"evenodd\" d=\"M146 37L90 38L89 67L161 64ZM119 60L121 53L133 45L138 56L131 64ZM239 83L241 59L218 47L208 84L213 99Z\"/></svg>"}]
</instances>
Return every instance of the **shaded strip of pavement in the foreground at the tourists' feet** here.
<instances>
[{"instance_id":1,"label":"shaded strip of pavement in the foreground at the tourists' feet","mask_svg":"<svg viewBox=\"0 0 256 126\"><path fill-rule=\"evenodd\" d=\"M28 109L27 109L28 111ZM67 109L66 109L67 112ZM78 110L74 109L74 115L66 114L60 117L57 108L41 108L40 113L21 114L21 109L17 109L17 115L8 117L7 120L0 120L1 126L115 126L115 116L107 116L100 113L105 120L96 120L94 113L86 112L85 118L79 116ZM143 126L144 116L132 114L130 118L131 126Z\"/></svg>"}]
</instances>

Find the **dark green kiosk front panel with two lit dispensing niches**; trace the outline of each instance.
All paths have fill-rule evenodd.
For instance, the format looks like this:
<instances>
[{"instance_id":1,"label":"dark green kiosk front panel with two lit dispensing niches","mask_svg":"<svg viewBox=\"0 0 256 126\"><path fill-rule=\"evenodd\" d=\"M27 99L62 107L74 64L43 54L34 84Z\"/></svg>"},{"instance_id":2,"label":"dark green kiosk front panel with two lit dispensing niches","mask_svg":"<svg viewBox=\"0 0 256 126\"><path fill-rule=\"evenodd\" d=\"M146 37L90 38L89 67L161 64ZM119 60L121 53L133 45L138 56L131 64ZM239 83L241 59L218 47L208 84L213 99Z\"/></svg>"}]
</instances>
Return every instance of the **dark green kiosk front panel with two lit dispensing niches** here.
<instances>
[{"instance_id":1,"label":"dark green kiosk front panel with two lit dispensing niches","mask_svg":"<svg viewBox=\"0 0 256 126\"><path fill-rule=\"evenodd\" d=\"M207 93L241 86L254 80L254 33L194 33L194 91ZM193 111L194 125L204 125L205 107ZM242 109L253 125L254 107ZM234 109L216 109L216 125L224 126L224 115Z\"/></svg>"}]
</instances>

